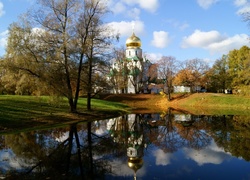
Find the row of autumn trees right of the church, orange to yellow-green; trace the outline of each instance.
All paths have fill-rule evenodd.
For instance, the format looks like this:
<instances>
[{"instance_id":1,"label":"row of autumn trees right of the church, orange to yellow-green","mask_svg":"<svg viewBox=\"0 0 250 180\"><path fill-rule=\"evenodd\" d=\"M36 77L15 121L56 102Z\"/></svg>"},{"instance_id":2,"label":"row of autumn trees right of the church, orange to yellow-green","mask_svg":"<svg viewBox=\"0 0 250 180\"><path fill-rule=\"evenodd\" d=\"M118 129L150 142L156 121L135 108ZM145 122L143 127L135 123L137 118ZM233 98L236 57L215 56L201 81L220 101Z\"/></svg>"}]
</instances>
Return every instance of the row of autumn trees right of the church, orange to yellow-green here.
<instances>
[{"instance_id":1,"label":"row of autumn trees right of the church, orange to yellow-green","mask_svg":"<svg viewBox=\"0 0 250 180\"><path fill-rule=\"evenodd\" d=\"M199 86L209 92L231 89L243 95L250 93L250 48L247 46L229 51L211 67L203 59L180 62L172 56L163 56L157 65L158 75L165 80L168 89L188 86L194 92Z\"/></svg>"}]
</instances>

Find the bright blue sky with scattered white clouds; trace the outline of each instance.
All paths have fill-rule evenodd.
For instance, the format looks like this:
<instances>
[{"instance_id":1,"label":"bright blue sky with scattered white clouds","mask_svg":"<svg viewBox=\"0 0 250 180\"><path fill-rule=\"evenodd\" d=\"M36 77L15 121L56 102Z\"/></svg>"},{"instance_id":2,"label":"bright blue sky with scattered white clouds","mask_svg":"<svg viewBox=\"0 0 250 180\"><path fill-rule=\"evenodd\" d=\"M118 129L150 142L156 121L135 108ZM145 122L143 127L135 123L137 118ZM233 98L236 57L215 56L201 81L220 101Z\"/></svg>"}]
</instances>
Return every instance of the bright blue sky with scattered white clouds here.
<instances>
[{"instance_id":1,"label":"bright blue sky with scattered white clouds","mask_svg":"<svg viewBox=\"0 0 250 180\"><path fill-rule=\"evenodd\" d=\"M177 60L203 59L210 64L230 50L249 46L250 25L242 13L248 0L104 0L111 9L105 17L120 33L115 46L125 47L134 32L151 61L162 56ZM8 27L35 0L0 0L0 56L5 53Z\"/></svg>"}]
</instances>

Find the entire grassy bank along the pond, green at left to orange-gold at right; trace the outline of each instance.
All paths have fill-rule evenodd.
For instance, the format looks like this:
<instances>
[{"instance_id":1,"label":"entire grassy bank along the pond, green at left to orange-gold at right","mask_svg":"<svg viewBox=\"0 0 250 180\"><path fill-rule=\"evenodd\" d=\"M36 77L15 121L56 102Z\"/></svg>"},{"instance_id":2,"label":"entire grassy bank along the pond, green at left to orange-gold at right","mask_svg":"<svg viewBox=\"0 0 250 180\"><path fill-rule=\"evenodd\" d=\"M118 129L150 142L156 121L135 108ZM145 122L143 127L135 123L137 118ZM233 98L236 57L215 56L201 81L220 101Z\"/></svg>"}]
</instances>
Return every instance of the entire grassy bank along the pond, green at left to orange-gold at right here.
<instances>
[{"instance_id":1,"label":"entire grassy bank along the pond, green at left to orange-gold at right","mask_svg":"<svg viewBox=\"0 0 250 180\"><path fill-rule=\"evenodd\" d=\"M156 113L167 111L169 107L199 115L250 115L250 97L213 93L173 94L169 102L162 95L105 95L100 99L92 99L91 111L86 110L86 99L80 98L80 114L72 114L69 113L66 99L2 95L0 133L105 119L129 112Z\"/></svg>"}]
</instances>

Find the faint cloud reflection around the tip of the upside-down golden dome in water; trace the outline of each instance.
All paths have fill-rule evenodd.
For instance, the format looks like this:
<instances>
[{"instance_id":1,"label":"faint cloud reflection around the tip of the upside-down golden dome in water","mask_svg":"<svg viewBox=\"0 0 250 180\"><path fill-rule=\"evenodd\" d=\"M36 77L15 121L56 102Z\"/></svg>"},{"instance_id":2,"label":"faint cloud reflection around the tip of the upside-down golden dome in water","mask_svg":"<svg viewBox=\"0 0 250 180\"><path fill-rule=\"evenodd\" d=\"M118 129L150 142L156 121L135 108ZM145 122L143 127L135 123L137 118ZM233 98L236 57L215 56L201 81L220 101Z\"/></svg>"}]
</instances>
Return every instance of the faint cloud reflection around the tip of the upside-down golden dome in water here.
<instances>
[{"instance_id":1,"label":"faint cloud reflection around the tip of the upside-down golden dome in water","mask_svg":"<svg viewBox=\"0 0 250 180\"><path fill-rule=\"evenodd\" d=\"M134 171L130 169L127 165L127 161L114 160L112 164L112 175L114 176L134 176ZM136 172L137 177L142 177L146 174L144 166L141 169L138 169Z\"/></svg>"}]
</instances>

